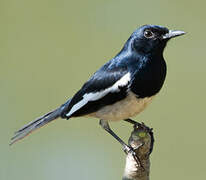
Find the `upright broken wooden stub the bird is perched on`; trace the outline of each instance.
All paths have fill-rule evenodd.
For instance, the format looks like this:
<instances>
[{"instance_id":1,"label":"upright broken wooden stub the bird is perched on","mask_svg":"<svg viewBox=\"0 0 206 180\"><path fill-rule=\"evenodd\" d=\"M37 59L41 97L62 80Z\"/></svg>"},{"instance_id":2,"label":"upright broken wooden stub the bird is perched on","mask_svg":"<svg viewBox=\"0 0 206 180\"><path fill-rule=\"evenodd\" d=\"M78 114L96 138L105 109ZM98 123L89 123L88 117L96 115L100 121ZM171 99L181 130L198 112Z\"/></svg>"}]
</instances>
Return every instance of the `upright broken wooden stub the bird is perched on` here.
<instances>
[{"instance_id":1,"label":"upright broken wooden stub the bird is perched on","mask_svg":"<svg viewBox=\"0 0 206 180\"><path fill-rule=\"evenodd\" d=\"M139 162L128 153L122 180L149 180L150 154L153 149L154 137L152 129L143 123L134 125L129 138L129 145L135 150Z\"/></svg>"}]
</instances>

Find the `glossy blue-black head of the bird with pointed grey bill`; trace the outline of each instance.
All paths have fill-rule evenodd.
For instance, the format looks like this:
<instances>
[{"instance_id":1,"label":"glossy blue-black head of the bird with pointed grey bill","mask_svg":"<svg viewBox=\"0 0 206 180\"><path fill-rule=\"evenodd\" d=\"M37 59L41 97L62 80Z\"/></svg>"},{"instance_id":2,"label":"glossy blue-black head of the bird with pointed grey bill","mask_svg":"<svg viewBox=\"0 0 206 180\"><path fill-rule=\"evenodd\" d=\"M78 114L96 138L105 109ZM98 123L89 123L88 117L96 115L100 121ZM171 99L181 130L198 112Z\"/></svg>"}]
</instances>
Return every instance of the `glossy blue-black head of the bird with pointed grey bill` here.
<instances>
[{"instance_id":1,"label":"glossy blue-black head of the bird with pointed grey bill","mask_svg":"<svg viewBox=\"0 0 206 180\"><path fill-rule=\"evenodd\" d=\"M128 40L132 51L142 54L162 54L171 38L185 34L157 25L144 25L133 32Z\"/></svg>"}]
</instances>

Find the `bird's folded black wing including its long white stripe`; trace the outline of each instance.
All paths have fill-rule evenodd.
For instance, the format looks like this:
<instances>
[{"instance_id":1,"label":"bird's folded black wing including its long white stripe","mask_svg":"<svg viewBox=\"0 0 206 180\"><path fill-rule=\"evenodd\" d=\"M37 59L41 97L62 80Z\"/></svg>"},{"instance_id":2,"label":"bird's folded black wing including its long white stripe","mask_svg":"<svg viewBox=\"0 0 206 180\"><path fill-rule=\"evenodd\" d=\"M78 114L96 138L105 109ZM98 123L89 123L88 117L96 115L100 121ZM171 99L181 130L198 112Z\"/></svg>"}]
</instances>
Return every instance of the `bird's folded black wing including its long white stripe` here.
<instances>
[{"instance_id":1,"label":"bird's folded black wing including its long white stripe","mask_svg":"<svg viewBox=\"0 0 206 180\"><path fill-rule=\"evenodd\" d=\"M90 114L103 106L123 99L127 94L129 81L126 84L124 81L123 85L117 82L127 74L127 66L109 61L74 95L62 117L70 118Z\"/></svg>"}]
</instances>

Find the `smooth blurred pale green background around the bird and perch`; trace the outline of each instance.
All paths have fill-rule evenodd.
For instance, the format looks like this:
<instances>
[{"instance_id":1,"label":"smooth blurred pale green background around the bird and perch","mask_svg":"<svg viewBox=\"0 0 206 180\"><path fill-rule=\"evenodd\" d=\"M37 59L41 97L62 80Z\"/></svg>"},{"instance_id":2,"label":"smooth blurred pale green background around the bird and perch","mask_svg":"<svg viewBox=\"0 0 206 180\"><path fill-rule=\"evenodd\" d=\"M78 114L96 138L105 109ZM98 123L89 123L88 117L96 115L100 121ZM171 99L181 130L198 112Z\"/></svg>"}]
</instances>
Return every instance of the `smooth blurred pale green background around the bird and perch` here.
<instances>
[{"instance_id":1,"label":"smooth blurred pale green background around the bird and perch","mask_svg":"<svg viewBox=\"0 0 206 180\"><path fill-rule=\"evenodd\" d=\"M205 1L1 0L0 179L121 179L125 154L96 119L58 120L9 147L13 132L71 97L143 24L169 42L161 93L135 118L154 128L151 179L205 179ZM112 123L126 141L132 127Z\"/></svg>"}]
</instances>

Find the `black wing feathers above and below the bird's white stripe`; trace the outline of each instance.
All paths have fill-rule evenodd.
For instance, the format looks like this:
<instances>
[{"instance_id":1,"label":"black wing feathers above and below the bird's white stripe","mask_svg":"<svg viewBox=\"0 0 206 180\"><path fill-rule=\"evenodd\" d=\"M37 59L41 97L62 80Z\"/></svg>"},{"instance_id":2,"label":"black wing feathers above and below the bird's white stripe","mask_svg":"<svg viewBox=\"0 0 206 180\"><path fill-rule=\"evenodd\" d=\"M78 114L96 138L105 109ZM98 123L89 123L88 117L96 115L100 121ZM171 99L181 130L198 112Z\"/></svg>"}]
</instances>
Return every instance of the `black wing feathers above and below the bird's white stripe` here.
<instances>
[{"instance_id":1,"label":"black wing feathers above and below the bird's white stripe","mask_svg":"<svg viewBox=\"0 0 206 180\"><path fill-rule=\"evenodd\" d=\"M114 85L119 79L121 79L126 73L128 73L127 66L119 66L112 59L104 66L102 66L94 75L82 86L82 88L74 95L69 106L65 109L62 117L66 117L66 114L71 108L83 99L83 96L88 93L101 92L112 85ZM90 101L82 108L75 111L72 116L81 116L90 114L97 111L101 107L109 104L113 104L126 97L127 86L119 87L118 92L110 92L103 98L96 101ZM68 117L67 117L68 118Z\"/></svg>"}]
</instances>

